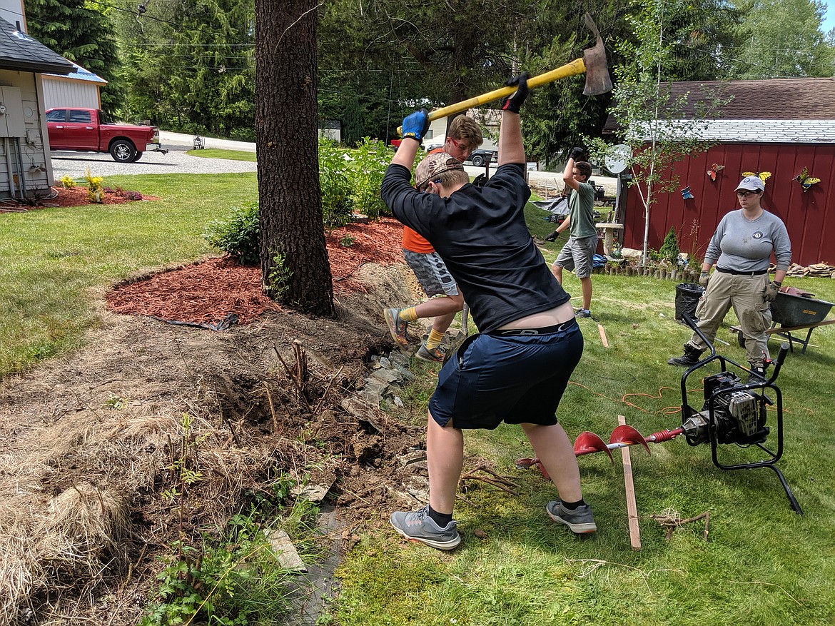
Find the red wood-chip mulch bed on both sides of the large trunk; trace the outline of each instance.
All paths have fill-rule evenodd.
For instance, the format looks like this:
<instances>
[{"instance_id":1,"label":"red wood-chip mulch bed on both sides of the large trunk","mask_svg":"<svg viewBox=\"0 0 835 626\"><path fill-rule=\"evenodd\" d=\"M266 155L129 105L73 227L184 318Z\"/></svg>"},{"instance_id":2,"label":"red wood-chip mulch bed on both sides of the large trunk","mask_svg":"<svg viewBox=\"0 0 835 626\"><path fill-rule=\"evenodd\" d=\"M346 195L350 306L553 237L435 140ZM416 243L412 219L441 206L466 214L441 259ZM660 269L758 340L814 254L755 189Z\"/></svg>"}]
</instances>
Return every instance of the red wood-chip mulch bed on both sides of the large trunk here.
<instances>
[{"instance_id":1,"label":"red wood-chip mulch bed on both sides of the large trunk","mask_svg":"<svg viewBox=\"0 0 835 626\"><path fill-rule=\"evenodd\" d=\"M402 230L397 220L388 218L350 224L328 233L334 291L348 294L367 290L352 280L365 263L390 265L402 261ZM352 244L340 244L347 237L352 238ZM265 310L281 310L261 290L261 268L238 265L228 256L118 286L107 295L107 303L117 313L204 326L217 325L230 315L237 316L239 324L246 324Z\"/></svg>"}]
</instances>

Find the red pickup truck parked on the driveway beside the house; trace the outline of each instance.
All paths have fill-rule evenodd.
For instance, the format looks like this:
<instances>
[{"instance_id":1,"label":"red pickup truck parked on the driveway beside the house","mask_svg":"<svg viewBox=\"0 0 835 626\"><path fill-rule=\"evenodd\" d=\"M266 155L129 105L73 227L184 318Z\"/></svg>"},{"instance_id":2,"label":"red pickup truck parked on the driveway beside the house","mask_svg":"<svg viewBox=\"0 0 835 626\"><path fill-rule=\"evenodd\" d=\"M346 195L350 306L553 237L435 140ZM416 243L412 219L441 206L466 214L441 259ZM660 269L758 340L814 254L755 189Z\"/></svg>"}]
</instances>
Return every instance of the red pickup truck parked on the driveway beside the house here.
<instances>
[{"instance_id":1,"label":"red pickup truck parked on the driveway beside the house","mask_svg":"<svg viewBox=\"0 0 835 626\"><path fill-rule=\"evenodd\" d=\"M159 129L154 126L109 124L98 109L61 107L48 109L49 147L53 150L109 152L114 161L138 161L149 144L159 146Z\"/></svg>"}]
</instances>

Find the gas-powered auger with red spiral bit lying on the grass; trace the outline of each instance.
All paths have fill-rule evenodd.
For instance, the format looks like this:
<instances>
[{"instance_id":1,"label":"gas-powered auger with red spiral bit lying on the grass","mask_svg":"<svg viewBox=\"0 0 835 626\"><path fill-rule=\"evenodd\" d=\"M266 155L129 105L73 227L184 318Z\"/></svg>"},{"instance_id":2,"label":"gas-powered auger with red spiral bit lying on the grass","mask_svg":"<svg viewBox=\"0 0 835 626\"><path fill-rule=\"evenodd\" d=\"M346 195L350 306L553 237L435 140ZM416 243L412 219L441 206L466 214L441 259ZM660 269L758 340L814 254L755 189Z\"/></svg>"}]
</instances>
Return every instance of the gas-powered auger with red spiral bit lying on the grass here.
<instances>
[{"instance_id":1,"label":"gas-powered auger with red spiral bit lying on the grass","mask_svg":"<svg viewBox=\"0 0 835 626\"><path fill-rule=\"evenodd\" d=\"M789 350L787 343L780 346L777 361L773 361L774 371L767 380L759 382L751 381L742 383L739 376L728 371L728 366L734 366L739 371L747 371L736 361L731 361L724 356L716 354L716 349L707 337L701 332L691 316L685 314L683 320L687 326L701 337L701 340L710 348L711 354L702 359L696 365L691 366L681 376L681 427L672 430L654 432L649 437L644 437L635 428L630 426L619 426L615 428L609 437L609 443L604 442L594 432L581 432L574 441L574 454L581 456L592 452L605 452L612 458L612 450L621 447L643 446L646 452L650 452L648 443L668 442L679 435L684 435L686 442L691 446L698 446L702 443L710 443L711 457L713 464L722 470L754 469L756 467L768 467L772 469L780 479L783 489L786 491L789 504L794 512L802 515L803 511L797 498L794 497L792 489L788 486L786 478L775 465L782 457L783 435L782 435L782 393L774 381L780 373L783 361ZM703 379L704 404L701 411L696 411L687 401L687 379L691 374L702 367L706 367L712 361L719 361L721 372ZM766 426L766 406L774 406L765 391L771 389L777 398L777 451L772 451L764 444L767 437L772 434L771 428ZM762 461L740 462L735 465L726 465L719 461L717 449L719 444L733 443L739 447L757 447L766 452L767 457ZM530 467L539 464L538 458L519 459L516 467ZM539 469L545 477L548 477L544 467L539 464Z\"/></svg>"}]
</instances>

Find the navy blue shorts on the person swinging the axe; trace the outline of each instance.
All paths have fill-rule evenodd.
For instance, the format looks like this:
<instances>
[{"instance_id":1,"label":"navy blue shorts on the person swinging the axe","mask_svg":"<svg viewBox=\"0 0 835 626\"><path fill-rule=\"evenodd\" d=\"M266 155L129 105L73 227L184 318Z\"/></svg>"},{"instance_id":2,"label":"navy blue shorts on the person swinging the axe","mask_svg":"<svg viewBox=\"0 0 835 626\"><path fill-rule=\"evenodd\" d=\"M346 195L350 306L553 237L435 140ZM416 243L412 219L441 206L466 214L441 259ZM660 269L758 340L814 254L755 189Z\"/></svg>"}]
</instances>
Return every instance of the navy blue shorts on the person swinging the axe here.
<instances>
[{"instance_id":1,"label":"navy blue shorts on the person swinging the axe","mask_svg":"<svg viewBox=\"0 0 835 626\"><path fill-rule=\"evenodd\" d=\"M440 426L493 429L557 423L559 400L583 355L583 334L567 321L544 335L473 335L438 374L429 413Z\"/></svg>"}]
</instances>

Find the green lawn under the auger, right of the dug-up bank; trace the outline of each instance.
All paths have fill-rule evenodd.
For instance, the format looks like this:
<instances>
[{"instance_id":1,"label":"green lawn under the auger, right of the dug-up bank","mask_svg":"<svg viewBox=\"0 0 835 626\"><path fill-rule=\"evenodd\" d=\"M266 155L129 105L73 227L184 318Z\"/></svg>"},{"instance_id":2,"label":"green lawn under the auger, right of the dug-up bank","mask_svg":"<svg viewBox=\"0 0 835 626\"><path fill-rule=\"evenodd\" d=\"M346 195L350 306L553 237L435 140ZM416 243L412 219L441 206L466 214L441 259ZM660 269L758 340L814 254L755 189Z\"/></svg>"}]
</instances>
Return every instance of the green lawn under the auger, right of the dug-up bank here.
<instances>
[{"instance_id":1,"label":"green lawn under the auger, right of the dug-up bank","mask_svg":"<svg viewBox=\"0 0 835 626\"><path fill-rule=\"evenodd\" d=\"M529 223L539 230L535 210ZM564 238L548 246L549 261L562 243ZM645 435L679 426L683 370L666 359L681 354L690 331L674 321L675 284L607 275L594 275L593 283L596 321L579 321L584 356L558 412L569 436L589 430L608 440L618 415ZM786 284L835 301L835 281L788 278ZM567 275L565 286L579 304L574 275ZM609 348L602 345L597 322ZM733 322L731 313L719 334L731 345L718 348L745 364L744 350L727 331ZM465 472L476 459L490 459L496 471L517 482L519 497L486 484L471 489L467 498L474 506L460 502L455 512L463 543L452 553L406 543L390 528L365 536L339 571L340 623L835 623L835 330L816 329L812 343L805 355L798 349L788 356L777 381L785 409L785 454L778 467L804 516L792 512L771 470L721 471L711 462L709 446L690 447L681 439L652 446L651 456L632 448L640 552L630 549L620 452L614 466L602 454L580 457L584 496L599 531L576 538L544 512L555 495L550 483L535 470L515 469L515 458L533 456L518 428L468 433ZM776 356L778 342L770 345ZM408 394L412 401L425 403L433 380L423 378ZM691 405L701 409L701 380L691 377L688 388ZM768 416L773 429L774 411ZM777 445L774 431L768 444ZM719 452L726 463L763 456L733 445ZM682 519L710 512L709 540L702 538L702 520L666 541L650 517L664 512Z\"/></svg>"}]
</instances>

